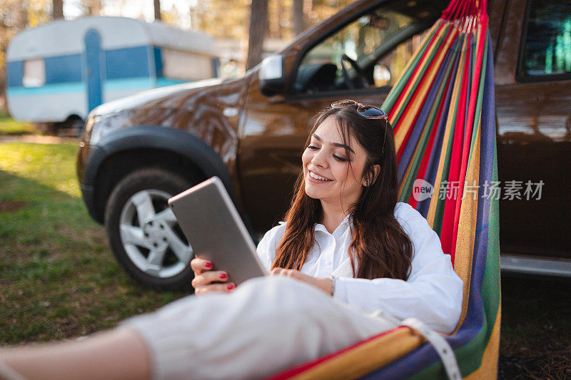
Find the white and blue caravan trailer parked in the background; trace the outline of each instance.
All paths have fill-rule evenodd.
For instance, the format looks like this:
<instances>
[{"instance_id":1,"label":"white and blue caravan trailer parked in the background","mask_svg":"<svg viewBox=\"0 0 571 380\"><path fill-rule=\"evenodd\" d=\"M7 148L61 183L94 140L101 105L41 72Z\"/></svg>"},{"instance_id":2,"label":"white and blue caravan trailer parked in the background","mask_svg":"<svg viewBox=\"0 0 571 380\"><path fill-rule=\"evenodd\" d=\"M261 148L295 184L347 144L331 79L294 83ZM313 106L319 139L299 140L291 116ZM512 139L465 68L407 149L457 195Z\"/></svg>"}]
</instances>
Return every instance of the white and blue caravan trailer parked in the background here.
<instances>
[{"instance_id":1,"label":"white and blue caravan trailer parked in the background","mask_svg":"<svg viewBox=\"0 0 571 380\"><path fill-rule=\"evenodd\" d=\"M107 101L218 76L210 36L124 17L60 20L22 31L6 61L12 117L39 123L85 119Z\"/></svg>"}]
</instances>

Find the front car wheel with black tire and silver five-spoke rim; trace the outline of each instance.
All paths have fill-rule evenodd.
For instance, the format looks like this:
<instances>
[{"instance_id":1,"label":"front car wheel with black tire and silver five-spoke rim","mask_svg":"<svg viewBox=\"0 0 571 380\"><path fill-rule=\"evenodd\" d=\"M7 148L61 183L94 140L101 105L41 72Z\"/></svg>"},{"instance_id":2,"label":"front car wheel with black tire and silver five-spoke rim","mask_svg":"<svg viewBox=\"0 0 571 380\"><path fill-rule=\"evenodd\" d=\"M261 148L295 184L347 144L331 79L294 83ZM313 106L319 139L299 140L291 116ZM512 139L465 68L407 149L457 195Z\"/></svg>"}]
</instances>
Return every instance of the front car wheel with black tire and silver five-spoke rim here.
<instances>
[{"instance_id":1,"label":"front car wheel with black tire and silver five-spoke rim","mask_svg":"<svg viewBox=\"0 0 571 380\"><path fill-rule=\"evenodd\" d=\"M167 200L199 180L161 168L137 170L109 196L105 225L117 262L136 281L155 289L192 289L192 249Z\"/></svg>"}]
</instances>

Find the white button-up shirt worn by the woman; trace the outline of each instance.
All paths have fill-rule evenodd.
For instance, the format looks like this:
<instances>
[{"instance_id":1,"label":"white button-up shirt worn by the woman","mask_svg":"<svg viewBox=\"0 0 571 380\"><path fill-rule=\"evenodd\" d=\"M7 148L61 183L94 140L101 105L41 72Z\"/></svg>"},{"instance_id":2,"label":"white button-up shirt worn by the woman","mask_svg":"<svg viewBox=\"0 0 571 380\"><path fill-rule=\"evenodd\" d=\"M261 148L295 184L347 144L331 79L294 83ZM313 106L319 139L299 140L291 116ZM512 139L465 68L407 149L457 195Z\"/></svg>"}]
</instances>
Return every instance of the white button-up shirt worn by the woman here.
<instances>
[{"instance_id":1,"label":"white button-up shirt worn by the woman","mask_svg":"<svg viewBox=\"0 0 571 380\"><path fill-rule=\"evenodd\" d=\"M463 282L454 272L450 256L425 218L407 203L399 202L395 217L413 243L410 276L402 279L353 278L349 246L353 240L350 215L333 231L315 225L315 242L301 272L313 277L335 276L333 296L363 312L382 310L398 319L416 317L438 332L451 332L462 310ZM271 267L285 234L285 223L266 232L258 256Z\"/></svg>"}]
</instances>

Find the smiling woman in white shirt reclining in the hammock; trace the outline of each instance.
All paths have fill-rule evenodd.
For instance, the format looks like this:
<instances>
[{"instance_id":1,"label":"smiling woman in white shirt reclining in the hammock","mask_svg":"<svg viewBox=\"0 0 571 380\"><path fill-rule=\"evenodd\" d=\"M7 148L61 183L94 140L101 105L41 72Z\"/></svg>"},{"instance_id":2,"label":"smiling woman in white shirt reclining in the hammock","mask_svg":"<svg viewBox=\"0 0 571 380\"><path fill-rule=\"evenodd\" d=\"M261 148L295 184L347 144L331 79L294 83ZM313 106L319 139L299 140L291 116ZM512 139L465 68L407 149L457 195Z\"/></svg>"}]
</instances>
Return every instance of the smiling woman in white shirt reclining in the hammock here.
<instances>
[{"instance_id":1,"label":"smiling woman in white shirt reclining in the hammock","mask_svg":"<svg viewBox=\"0 0 571 380\"><path fill-rule=\"evenodd\" d=\"M199 297L129 319L100 337L0 353L0 361L31 377L51 371L86 378L96 366L100 378L258 379L398 327L403 319L453 331L463 282L426 220L397 202L388 121L366 117L355 102L327 108L302 161L285 223L258 245L271 276L236 287L226 272L213 270L214 263L195 258L192 284ZM119 362L117 352L128 355Z\"/></svg>"}]
</instances>

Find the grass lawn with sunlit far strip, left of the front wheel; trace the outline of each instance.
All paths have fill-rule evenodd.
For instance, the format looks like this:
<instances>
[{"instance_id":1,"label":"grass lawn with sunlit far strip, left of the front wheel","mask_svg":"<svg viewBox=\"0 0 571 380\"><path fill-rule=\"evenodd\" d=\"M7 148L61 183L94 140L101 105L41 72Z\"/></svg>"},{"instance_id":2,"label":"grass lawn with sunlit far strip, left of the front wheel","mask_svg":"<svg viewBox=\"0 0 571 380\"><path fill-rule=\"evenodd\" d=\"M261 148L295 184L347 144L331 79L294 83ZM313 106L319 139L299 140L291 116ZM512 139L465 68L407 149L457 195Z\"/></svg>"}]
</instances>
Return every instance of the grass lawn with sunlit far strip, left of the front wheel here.
<instances>
[{"instance_id":1,"label":"grass lawn with sunlit far strip, left of the front wheel","mask_svg":"<svg viewBox=\"0 0 571 380\"><path fill-rule=\"evenodd\" d=\"M0 344L77 337L185 295L118 267L81 200L76 151L0 143Z\"/></svg>"}]
</instances>

